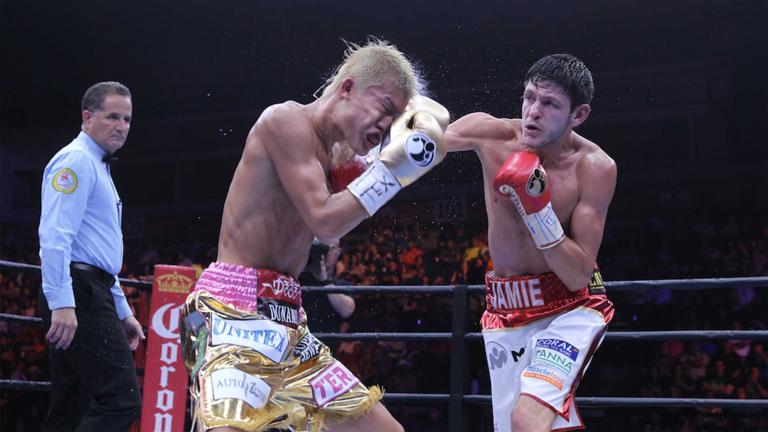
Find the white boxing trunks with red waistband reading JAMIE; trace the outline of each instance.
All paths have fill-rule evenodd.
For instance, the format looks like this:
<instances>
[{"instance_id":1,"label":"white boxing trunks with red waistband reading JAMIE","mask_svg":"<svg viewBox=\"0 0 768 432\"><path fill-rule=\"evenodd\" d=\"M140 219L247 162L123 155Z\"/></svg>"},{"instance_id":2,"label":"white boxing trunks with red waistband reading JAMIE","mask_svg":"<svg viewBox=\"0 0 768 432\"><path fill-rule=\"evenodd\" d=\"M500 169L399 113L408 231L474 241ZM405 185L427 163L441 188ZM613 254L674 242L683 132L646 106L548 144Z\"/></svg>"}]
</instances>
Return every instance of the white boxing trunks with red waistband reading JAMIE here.
<instances>
[{"instance_id":1,"label":"white boxing trunks with red waistband reading JAMIE","mask_svg":"<svg viewBox=\"0 0 768 432\"><path fill-rule=\"evenodd\" d=\"M486 275L483 339L494 431L511 430L521 394L557 414L552 430L583 428L573 397L613 317L598 271L573 292L554 273Z\"/></svg>"}]
</instances>

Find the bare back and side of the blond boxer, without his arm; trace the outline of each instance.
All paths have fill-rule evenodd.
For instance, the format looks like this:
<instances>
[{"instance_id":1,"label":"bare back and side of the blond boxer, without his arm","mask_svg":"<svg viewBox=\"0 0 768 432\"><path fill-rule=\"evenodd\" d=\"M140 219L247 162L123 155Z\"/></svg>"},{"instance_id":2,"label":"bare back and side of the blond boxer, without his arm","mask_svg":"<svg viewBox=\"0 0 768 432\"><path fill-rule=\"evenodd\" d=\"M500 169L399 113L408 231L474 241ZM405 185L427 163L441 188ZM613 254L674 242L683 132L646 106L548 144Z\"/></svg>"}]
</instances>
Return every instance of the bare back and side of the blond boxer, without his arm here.
<instances>
[{"instance_id":1,"label":"bare back and side of the blond boxer, without his arm","mask_svg":"<svg viewBox=\"0 0 768 432\"><path fill-rule=\"evenodd\" d=\"M248 134L227 193L218 261L290 275L298 275L307 261L314 235L288 197L264 145L265 139L272 139L265 127L275 127L286 116L290 127L304 129L307 140L318 141L301 105L286 102L265 110Z\"/></svg>"}]
</instances>

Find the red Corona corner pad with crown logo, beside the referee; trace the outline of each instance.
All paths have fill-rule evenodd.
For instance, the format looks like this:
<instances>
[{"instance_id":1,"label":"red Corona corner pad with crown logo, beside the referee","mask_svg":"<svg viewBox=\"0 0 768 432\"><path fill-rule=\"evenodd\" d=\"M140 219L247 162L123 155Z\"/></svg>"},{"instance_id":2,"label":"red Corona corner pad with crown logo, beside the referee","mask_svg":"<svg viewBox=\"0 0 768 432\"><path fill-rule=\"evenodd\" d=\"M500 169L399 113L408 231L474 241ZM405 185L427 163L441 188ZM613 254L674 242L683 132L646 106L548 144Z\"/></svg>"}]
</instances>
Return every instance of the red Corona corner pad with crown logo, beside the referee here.
<instances>
[{"instance_id":1,"label":"red Corona corner pad with crown logo, beside the referee","mask_svg":"<svg viewBox=\"0 0 768 432\"><path fill-rule=\"evenodd\" d=\"M156 265L144 367L141 432L181 432L187 403L187 370L179 323L184 300L195 286L195 269Z\"/></svg>"}]
</instances>

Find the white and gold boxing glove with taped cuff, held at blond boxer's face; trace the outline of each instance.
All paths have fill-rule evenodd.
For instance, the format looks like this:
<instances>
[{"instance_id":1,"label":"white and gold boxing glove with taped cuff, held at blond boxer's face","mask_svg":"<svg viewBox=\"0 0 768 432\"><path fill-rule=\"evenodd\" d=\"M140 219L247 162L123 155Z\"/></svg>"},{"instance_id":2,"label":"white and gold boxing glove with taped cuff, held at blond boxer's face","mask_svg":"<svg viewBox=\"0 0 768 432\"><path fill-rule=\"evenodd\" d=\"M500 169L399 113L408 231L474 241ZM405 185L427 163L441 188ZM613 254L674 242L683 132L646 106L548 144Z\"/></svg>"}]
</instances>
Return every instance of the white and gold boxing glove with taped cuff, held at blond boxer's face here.
<instances>
[{"instance_id":1,"label":"white and gold boxing glove with taped cuff, held at blond boxer's face","mask_svg":"<svg viewBox=\"0 0 768 432\"><path fill-rule=\"evenodd\" d=\"M440 163L447 153L443 134L450 115L442 105L414 96L395 120L378 157L347 187L373 215L400 189Z\"/></svg>"}]
</instances>

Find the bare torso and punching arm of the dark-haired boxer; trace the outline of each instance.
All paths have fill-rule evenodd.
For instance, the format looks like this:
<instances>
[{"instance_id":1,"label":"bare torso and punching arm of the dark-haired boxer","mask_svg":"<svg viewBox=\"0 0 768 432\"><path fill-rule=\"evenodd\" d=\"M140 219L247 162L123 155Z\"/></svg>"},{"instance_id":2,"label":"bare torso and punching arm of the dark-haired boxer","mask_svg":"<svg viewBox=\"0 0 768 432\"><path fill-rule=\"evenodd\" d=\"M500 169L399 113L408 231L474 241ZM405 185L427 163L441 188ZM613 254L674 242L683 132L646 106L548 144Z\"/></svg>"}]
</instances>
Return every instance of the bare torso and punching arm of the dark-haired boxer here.
<instances>
[{"instance_id":1,"label":"bare torso and punching arm of the dark-haired boxer","mask_svg":"<svg viewBox=\"0 0 768 432\"><path fill-rule=\"evenodd\" d=\"M455 125L446 134L449 150L474 150L482 164L488 241L496 274L511 276L551 271L515 206L493 189L493 178L510 154L527 150L521 139L522 122L476 113L458 120ZM537 154L552 188L553 209L566 235L573 237L571 217L581 200L583 188L609 176L610 167L615 170L615 165L597 145L577 133L570 132L565 138L557 147ZM607 210L611 194L603 195L598 205Z\"/></svg>"}]
</instances>

